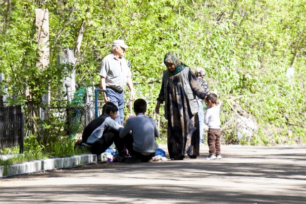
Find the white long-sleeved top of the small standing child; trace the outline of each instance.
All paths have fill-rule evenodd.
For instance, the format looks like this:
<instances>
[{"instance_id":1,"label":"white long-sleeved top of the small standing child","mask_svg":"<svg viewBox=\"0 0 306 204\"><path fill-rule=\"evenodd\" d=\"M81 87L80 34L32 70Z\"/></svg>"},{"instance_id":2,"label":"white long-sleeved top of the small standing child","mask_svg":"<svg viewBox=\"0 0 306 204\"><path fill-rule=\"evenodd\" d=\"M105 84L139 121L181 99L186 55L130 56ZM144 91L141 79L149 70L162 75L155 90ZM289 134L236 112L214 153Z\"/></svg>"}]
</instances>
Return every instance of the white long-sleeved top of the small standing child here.
<instances>
[{"instance_id":1,"label":"white long-sleeved top of the small standing child","mask_svg":"<svg viewBox=\"0 0 306 204\"><path fill-rule=\"evenodd\" d=\"M220 100L219 100L220 101ZM215 107L209 108L206 110L206 115L204 118L204 123L211 129L219 129L221 125L220 121L220 107L221 101Z\"/></svg>"}]
</instances>

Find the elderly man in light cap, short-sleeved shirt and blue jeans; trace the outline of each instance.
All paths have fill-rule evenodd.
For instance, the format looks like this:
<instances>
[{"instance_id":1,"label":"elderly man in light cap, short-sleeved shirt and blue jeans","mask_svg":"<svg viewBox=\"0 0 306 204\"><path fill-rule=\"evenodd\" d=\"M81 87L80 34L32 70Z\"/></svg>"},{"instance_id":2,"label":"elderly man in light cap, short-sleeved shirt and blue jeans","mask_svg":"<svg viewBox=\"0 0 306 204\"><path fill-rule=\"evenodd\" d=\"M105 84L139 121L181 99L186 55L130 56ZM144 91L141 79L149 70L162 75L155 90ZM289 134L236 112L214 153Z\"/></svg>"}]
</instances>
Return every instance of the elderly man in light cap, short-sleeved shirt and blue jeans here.
<instances>
[{"instance_id":1,"label":"elderly man in light cap, short-sleeved shirt and blue jeans","mask_svg":"<svg viewBox=\"0 0 306 204\"><path fill-rule=\"evenodd\" d=\"M123 125L124 114L124 88L127 84L130 89L130 101L134 100L134 89L131 79L131 70L123 57L128 46L123 40L115 40L112 42L111 53L103 58L101 63L101 88L106 89L109 97L104 93L104 101L114 103L119 111L117 113L116 122Z\"/></svg>"}]
</instances>

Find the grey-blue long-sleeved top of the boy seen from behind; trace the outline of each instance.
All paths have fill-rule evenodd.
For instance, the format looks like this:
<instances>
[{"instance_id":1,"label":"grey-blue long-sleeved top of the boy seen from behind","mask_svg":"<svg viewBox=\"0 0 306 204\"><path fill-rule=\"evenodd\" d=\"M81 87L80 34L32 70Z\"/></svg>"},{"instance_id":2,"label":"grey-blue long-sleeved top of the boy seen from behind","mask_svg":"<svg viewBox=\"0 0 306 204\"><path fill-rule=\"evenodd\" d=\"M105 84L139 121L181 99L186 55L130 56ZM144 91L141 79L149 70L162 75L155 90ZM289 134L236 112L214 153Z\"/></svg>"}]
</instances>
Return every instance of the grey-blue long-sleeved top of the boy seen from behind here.
<instances>
[{"instance_id":1,"label":"grey-blue long-sleeved top of the boy seen from behind","mask_svg":"<svg viewBox=\"0 0 306 204\"><path fill-rule=\"evenodd\" d=\"M158 149L158 144L154 137L159 137L159 131L152 118L138 115L128 119L119 136L122 138L129 131L132 131L134 139L133 149L135 151L140 153L152 153Z\"/></svg>"}]
</instances>

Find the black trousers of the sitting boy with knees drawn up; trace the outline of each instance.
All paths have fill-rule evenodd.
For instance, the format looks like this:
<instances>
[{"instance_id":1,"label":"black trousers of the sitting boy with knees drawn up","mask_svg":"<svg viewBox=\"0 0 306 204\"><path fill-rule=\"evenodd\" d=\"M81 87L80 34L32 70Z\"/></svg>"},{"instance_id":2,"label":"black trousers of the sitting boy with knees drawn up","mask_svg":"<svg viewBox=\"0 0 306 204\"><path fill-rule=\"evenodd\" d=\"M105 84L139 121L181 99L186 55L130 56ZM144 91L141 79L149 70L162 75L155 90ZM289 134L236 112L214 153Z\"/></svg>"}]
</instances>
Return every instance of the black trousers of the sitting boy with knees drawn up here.
<instances>
[{"instance_id":1,"label":"black trousers of the sitting boy with knees drawn up","mask_svg":"<svg viewBox=\"0 0 306 204\"><path fill-rule=\"evenodd\" d=\"M126 152L124 142L119 137L119 133L113 129L103 132L103 135L91 146L91 152L93 154L102 154L113 142L116 145L119 155L124 155Z\"/></svg>"}]
</instances>

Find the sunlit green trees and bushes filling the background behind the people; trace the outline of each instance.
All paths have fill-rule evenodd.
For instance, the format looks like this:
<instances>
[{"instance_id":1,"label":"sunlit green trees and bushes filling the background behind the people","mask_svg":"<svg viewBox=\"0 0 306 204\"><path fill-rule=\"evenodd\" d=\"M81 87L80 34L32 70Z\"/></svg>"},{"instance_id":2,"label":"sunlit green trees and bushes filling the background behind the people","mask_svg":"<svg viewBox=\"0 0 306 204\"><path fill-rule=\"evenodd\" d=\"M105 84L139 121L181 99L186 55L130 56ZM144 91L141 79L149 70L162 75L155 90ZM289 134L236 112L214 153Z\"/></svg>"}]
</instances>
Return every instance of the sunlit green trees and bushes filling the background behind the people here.
<instances>
[{"instance_id":1,"label":"sunlit green trees and bushes filling the background behind the people","mask_svg":"<svg viewBox=\"0 0 306 204\"><path fill-rule=\"evenodd\" d=\"M49 9L51 62L43 71L36 66L35 8ZM184 64L205 68L210 89L224 101L222 124L235 116L225 101L243 96L236 102L259 130L239 139L229 126L223 130L225 143L306 142L305 0L0 0L0 15L0 72L10 97L15 94L12 86L17 87L26 116L41 106L47 87L56 97L57 78L68 73L57 68L56 55L75 47L86 22L76 65L82 85L99 83L102 58L113 40L123 39L130 46L126 58L137 83L136 98L149 101L151 116L165 69L163 57L174 52ZM289 67L295 68L292 84L286 78ZM25 87L33 98L25 97ZM51 150L51 142L65 138L56 118L29 120L34 133L29 143L36 139L36 146ZM160 120L165 136L166 121L162 115Z\"/></svg>"}]
</instances>

